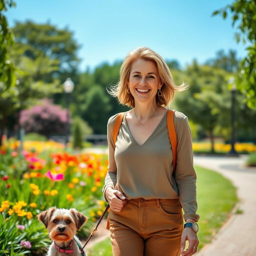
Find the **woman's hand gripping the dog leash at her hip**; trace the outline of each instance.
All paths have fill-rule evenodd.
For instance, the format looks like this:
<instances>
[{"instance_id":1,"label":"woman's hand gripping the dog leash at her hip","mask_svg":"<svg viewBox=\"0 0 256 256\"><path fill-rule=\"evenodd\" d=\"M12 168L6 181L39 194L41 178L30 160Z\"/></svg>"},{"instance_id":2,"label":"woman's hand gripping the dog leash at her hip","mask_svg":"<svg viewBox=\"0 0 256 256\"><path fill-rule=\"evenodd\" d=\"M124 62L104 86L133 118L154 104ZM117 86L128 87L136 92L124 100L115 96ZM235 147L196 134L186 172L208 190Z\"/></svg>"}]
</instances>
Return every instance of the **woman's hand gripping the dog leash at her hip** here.
<instances>
[{"instance_id":1,"label":"woman's hand gripping the dog leash at her hip","mask_svg":"<svg viewBox=\"0 0 256 256\"><path fill-rule=\"evenodd\" d=\"M113 212L120 212L122 208L124 208L124 204L127 200L121 192L111 187L106 189L106 199L108 200L110 209Z\"/></svg>"}]
</instances>

